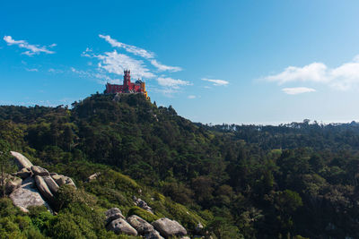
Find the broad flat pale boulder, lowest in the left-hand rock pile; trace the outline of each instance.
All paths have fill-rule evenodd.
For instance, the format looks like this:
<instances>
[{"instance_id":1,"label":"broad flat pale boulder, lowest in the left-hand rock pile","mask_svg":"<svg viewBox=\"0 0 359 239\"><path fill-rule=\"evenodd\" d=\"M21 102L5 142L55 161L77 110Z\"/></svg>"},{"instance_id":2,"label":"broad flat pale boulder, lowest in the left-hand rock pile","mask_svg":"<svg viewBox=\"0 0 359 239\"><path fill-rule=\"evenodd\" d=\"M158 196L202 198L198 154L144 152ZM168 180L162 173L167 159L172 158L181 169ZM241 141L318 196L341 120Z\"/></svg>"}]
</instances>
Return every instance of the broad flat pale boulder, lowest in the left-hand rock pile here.
<instances>
[{"instance_id":1,"label":"broad flat pale boulder, lowest in the left-hand rock pile","mask_svg":"<svg viewBox=\"0 0 359 239\"><path fill-rule=\"evenodd\" d=\"M46 206L50 209L48 203L41 197L33 177L23 180L22 185L10 194L10 199L13 201L13 205L25 212L28 212L30 206Z\"/></svg>"}]
</instances>

